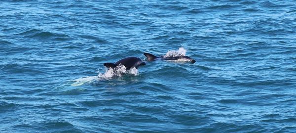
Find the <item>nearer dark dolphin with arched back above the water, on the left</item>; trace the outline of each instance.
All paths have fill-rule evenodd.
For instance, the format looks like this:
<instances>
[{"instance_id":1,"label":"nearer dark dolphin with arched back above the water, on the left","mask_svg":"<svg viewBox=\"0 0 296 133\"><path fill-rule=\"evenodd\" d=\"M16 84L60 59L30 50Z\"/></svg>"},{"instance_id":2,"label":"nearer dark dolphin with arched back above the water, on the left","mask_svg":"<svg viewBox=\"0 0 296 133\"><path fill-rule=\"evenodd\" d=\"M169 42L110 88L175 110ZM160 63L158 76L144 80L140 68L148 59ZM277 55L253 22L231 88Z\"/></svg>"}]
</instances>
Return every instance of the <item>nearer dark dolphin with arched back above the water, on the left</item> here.
<instances>
[{"instance_id":1,"label":"nearer dark dolphin with arched back above the water, on the left","mask_svg":"<svg viewBox=\"0 0 296 133\"><path fill-rule=\"evenodd\" d=\"M104 63L104 66L106 66L108 68L115 68L116 66L119 66L120 64L126 67L125 70L130 70L134 67L138 69L139 66L146 65L146 63L144 61L142 61L140 58L127 57L127 58L123 58L121 60L118 60L115 63Z\"/></svg>"}]
</instances>

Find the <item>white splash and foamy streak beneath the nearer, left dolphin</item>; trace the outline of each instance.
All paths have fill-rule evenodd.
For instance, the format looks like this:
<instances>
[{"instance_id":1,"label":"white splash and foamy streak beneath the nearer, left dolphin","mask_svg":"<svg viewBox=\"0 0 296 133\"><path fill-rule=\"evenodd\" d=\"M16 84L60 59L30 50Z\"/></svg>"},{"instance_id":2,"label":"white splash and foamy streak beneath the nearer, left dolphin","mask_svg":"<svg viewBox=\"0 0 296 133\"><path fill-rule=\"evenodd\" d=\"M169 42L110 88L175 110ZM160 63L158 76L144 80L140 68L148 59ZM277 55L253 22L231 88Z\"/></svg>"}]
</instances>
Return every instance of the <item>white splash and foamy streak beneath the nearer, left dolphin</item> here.
<instances>
[{"instance_id":1,"label":"white splash and foamy streak beneath the nearer, left dolphin","mask_svg":"<svg viewBox=\"0 0 296 133\"><path fill-rule=\"evenodd\" d=\"M138 69L132 68L130 70L125 70L126 67L123 65L118 65L115 68L109 68L105 70L105 73L100 73L98 76L88 76L74 80L75 83L72 86L81 86L86 83L92 83L95 81L101 81L106 79L111 79L112 77L121 77L124 74L138 75Z\"/></svg>"}]
</instances>

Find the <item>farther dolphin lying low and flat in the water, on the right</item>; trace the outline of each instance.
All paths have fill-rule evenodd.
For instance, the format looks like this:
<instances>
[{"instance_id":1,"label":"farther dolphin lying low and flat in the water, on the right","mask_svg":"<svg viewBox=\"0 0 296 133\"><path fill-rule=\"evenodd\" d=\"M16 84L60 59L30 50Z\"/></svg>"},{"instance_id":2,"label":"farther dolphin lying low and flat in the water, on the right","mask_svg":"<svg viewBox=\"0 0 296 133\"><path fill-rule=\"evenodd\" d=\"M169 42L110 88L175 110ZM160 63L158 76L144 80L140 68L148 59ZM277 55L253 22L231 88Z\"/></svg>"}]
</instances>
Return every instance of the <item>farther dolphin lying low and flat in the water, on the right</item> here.
<instances>
[{"instance_id":1,"label":"farther dolphin lying low and flat in the water, on the right","mask_svg":"<svg viewBox=\"0 0 296 133\"><path fill-rule=\"evenodd\" d=\"M157 57L157 56L150 54L150 53L144 53L144 55L147 57L148 61L153 61L156 59L163 59L163 60L183 60L183 61L190 61L191 63L195 62L194 59L191 59L190 57L185 56L185 55L170 56L170 57L165 57L165 56Z\"/></svg>"}]
</instances>

